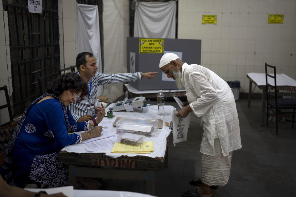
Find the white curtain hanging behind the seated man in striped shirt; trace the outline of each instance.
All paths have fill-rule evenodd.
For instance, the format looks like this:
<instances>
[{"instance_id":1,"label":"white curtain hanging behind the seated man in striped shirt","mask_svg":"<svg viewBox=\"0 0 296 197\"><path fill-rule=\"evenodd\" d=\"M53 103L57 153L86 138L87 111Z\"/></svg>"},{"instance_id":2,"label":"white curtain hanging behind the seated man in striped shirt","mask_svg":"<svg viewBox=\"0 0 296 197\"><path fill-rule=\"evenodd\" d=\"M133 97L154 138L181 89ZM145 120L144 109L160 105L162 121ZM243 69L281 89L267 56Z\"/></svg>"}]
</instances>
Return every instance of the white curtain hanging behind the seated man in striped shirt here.
<instances>
[{"instance_id":1,"label":"white curtain hanging behind the seated man in striped shirt","mask_svg":"<svg viewBox=\"0 0 296 197\"><path fill-rule=\"evenodd\" d=\"M102 72L98 6L77 4L77 43L78 53L93 53L97 60L97 72ZM103 86L98 89L97 95L101 94Z\"/></svg>"}]
</instances>

